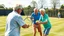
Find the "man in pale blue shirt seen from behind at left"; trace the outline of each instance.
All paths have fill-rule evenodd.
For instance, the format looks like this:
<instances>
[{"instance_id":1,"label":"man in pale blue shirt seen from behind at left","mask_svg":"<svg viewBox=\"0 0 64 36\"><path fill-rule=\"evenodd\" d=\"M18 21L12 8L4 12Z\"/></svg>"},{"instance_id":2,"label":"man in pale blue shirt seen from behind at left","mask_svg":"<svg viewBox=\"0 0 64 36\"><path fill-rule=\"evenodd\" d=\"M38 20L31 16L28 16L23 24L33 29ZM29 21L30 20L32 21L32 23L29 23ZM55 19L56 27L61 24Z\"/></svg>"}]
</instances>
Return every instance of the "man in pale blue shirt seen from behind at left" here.
<instances>
[{"instance_id":1,"label":"man in pale blue shirt seen from behind at left","mask_svg":"<svg viewBox=\"0 0 64 36\"><path fill-rule=\"evenodd\" d=\"M22 6L18 5L15 10L8 14L6 21L5 36L20 36L20 27L28 28L29 25L23 21L20 13L22 12Z\"/></svg>"}]
</instances>

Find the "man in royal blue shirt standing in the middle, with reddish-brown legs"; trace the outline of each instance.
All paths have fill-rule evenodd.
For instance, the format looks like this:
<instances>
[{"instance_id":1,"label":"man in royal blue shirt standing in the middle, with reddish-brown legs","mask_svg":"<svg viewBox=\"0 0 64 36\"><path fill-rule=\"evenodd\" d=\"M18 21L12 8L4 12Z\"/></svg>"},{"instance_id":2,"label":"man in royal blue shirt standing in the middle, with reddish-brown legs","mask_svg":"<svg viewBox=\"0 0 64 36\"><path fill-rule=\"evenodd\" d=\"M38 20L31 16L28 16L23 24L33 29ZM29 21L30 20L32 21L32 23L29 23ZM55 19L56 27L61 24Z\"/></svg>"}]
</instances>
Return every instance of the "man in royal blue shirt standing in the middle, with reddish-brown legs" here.
<instances>
[{"instance_id":1,"label":"man in royal blue shirt standing in the middle, with reddish-brown legs","mask_svg":"<svg viewBox=\"0 0 64 36\"><path fill-rule=\"evenodd\" d=\"M42 36L41 26L40 24L37 24L36 21L40 18L40 12L38 12L37 8L34 8L34 12L31 14L31 20L33 22L34 27L34 36L36 36L36 29L38 29L38 32L40 33L40 36Z\"/></svg>"}]
</instances>

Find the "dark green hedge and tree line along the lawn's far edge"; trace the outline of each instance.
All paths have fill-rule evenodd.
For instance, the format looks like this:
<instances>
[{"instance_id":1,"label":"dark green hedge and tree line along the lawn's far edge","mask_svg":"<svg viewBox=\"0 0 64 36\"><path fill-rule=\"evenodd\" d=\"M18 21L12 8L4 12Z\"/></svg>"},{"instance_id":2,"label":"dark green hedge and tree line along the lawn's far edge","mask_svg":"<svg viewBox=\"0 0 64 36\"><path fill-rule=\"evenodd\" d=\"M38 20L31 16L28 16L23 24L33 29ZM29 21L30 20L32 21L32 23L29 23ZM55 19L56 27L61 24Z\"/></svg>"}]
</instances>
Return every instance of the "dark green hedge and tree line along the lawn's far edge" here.
<instances>
[{"instance_id":1,"label":"dark green hedge and tree line along the lawn's far edge","mask_svg":"<svg viewBox=\"0 0 64 36\"><path fill-rule=\"evenodd\" d=\"M30 5L28 7L24 7L23 8L23 13L21 13L21 15L31 15L31 13L33 12L34 7L31 7ZM64 5L61 5L60 9L56 9L56 11L54 11L54 8L52 9L48 9L48 8L44 8L46 10L46 13L50 16L50 17L57 17L58 12L61 13L61 16L64 17ZM0 6L0 15L8 15L10 12L13 11L13 8L4 8L3 6Z\"/></svg>"}]
</instances>

